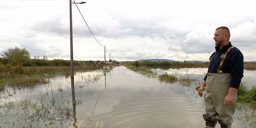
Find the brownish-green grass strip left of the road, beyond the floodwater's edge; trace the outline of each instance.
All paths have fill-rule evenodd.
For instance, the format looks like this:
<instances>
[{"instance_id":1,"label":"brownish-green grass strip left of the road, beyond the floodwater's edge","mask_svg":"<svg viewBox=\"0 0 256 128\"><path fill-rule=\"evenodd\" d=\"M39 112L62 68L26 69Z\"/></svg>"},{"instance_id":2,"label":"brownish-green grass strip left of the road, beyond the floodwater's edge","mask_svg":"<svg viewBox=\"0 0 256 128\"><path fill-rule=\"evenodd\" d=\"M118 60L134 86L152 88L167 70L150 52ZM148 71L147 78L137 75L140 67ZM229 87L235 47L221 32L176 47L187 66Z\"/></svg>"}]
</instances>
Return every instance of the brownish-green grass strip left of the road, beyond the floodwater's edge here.
<instances>
[{"instance_id":1,"label":"brownish-green grass strip left of the road, beyond the floodwater's edge","mask_svg":"<svg viewBox=\"0 0 256 128\"><path fill-rule=\"evenodd\" d=\"M76 72L92 71L102 68L102 65L75 66ZM9 86L35 86L40 83L50 82L50 78L58 75L70 75L70 66L42 66L42 67L21 67L17 72L16 68L0 71L0 90Z\"/></svg>"}]
</instances>

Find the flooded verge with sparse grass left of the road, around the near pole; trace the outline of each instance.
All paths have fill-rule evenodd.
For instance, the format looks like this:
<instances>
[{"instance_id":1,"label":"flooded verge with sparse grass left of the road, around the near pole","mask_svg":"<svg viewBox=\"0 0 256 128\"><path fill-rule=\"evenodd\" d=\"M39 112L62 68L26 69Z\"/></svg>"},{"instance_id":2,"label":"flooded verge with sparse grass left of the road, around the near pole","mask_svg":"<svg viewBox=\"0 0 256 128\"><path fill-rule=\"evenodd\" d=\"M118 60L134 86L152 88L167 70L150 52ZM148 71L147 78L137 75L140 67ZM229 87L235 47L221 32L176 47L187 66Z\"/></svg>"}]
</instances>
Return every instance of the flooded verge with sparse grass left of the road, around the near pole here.
<instances>
[{"instance_id":1,"label":"flooded verge with sparse grass left of the road, around the near pole","mask_svg":"<svg viewBox=\"0 0 256 128\"><path fill-rule=\"evenodd\" d=\"M78 72L76 85L74 79L58 76L33 88L6 86L0 93L0 127L78 127L76 106L82 101L76 99L75 88L96 82L101 74L102 70Z\"/></svg>"}]
</instances>

